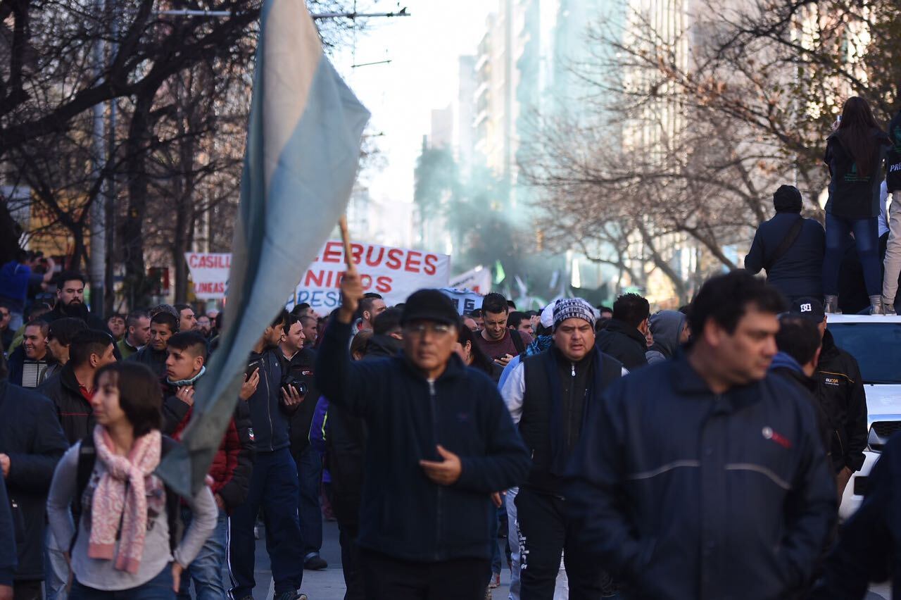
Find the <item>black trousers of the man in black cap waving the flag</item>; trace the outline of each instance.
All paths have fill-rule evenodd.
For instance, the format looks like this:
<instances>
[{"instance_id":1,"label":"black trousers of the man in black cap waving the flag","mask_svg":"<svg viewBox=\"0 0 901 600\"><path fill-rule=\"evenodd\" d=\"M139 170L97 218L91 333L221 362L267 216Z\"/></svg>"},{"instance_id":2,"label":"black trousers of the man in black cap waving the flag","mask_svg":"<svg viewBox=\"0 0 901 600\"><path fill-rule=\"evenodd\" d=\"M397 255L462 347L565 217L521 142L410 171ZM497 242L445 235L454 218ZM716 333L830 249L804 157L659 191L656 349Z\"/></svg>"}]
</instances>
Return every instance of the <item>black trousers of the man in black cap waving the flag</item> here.
<instances>
[{"instance_id":1,"label":"black trousers of the man in black cap waving the flag","mask_svg":"<svg viewBox=\"0 0 901 600\"><path fill-rule=\"evenodd\" d=\"M490 559L414 562L359 549L366 600L485 600Z\"/></svg>"}]
</instances>

